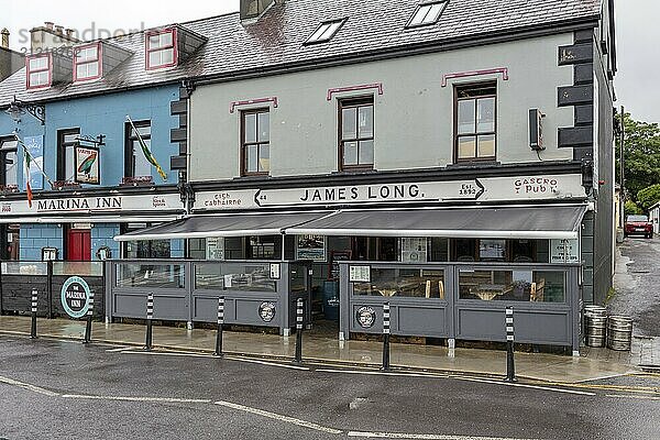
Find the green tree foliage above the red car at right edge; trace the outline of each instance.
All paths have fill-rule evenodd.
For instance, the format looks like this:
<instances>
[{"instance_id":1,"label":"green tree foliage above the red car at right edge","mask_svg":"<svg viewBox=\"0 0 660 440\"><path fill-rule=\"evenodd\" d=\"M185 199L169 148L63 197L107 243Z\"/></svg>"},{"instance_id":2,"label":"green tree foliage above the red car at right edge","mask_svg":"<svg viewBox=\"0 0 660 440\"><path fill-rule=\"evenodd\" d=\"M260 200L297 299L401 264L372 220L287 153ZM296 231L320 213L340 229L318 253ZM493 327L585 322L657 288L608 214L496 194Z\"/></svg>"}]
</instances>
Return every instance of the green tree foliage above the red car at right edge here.
<instances>
[{"instance_id":1,"label":"green tree foliage above the red car at right edge","mask_svg":"<svg viewBox=\"0 0 660 440\"><path fill-rule=\"evenodd\" d=\"M660 127L658 123L636 121L630 113L624 114L624 127L625 187L627 197L637 200L638 194L644 188L660 184ZM619 153L617 145L617 175Z\"/></svg>"}]
</instances>

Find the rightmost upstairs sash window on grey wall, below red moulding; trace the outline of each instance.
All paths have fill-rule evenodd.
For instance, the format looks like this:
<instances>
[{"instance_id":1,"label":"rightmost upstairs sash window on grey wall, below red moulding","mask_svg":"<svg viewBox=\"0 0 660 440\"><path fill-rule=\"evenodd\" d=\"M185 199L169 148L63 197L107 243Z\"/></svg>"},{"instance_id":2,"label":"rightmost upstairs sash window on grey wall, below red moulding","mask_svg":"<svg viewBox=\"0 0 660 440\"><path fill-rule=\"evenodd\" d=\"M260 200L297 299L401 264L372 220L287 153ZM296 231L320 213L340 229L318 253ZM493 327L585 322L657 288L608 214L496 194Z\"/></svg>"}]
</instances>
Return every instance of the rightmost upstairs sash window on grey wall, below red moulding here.
<instances>
[{"instance_id":1,"label":"rightmost upstairs sash window on grey wall, below red moulding","mask_svg":"<svg viewBox=\"0 0 660 440\"><path fill-rule=\"evenodd\" d=\"M494 161L496 87L493 82L454 89L457 162Z\"/></svg>"}]
</instances>

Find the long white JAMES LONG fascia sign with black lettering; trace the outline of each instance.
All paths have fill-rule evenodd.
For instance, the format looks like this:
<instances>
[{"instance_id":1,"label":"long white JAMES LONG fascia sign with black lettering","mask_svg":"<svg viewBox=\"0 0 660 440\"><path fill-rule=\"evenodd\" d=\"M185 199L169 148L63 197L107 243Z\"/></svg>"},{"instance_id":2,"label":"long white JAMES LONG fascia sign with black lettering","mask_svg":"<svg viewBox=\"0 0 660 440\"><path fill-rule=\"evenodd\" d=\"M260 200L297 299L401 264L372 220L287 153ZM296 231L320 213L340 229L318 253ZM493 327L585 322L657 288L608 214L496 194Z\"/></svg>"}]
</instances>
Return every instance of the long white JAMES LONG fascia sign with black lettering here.
<instances>
[{"instance_id":1,"label":"long white JAMES LONG fascia sign with black lettering","mask_svg":"<svg viewBox=\"0 0 660 440\"><path fill-rule=\"evenodd\" d=\"M516 201L584 198L580 175L487 177L285 189L239 189L197 195L196 210L295 206L346 206L370 202Z\"/></svg>"}]
</instances>

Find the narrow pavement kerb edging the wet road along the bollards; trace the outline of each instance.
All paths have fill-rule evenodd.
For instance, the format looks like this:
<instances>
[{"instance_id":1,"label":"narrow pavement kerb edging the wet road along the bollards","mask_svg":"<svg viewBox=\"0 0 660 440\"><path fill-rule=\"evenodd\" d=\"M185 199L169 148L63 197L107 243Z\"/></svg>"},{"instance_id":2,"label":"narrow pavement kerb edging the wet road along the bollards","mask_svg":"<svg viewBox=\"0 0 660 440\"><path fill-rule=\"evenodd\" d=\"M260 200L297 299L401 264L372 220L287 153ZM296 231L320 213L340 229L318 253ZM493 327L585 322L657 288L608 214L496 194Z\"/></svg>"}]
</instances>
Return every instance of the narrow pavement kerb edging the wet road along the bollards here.
<instances>
[{"instance_id":1,"label":"narrow pavement kerb edging the wet road along the bollards","mask_svg":"<svg viewBox=\"0 0 660 440\"><path fill-rule=\"evenodd\" d=\"M30 336L29 332L22 331L12 331L12 330L0 330L0 334L12 334L12 336ZM64 334L48 334L43 333L40 334L38 338L47 339L47 340L67 340L67 341L82 341L80 337L70 337ZM136 342L128 342L128 341L117 341L117 340L107 340L107 339L91 339L91 343L105 343L109 345L127 345L133 346L136 349L143 349L144 344ZM161 350L163 352L173 352L173 353L197 353L197 354L212 354L212 350L198 349L193 346L180 346L180 345L161 345L153 344L154 351ZM270 360L270 361L280 361L280 362L292 362L293 356L280 356L280 355L266 355L261 353L249 353L249 352L232 352L224 351L223 354L235 356L235 358L245 358L245 359L254 359L254 360ZM519 353L522 354L522 353ZM342 360L329 360L322 358L304 358L304 365L321 365L324 367L328 366L341 366L341 367L360 367L369 371L376 371L381 367L381 364L370 363L370 362L359 362L359 361L342 361ZM472 371L472 370L446 370L446 369L432 369L432 367L418 367L410 365L398 365L392 364L391 367L395 370L394 372L410 372L410 373L430 373L430 374L443 374L443 375L453 375L453 376L480 376L487 377L491 380L503 380L505 375L503 374L493 374L483 371ZM516 374L516 378L528 382L528 383L556 383L557 381L548 381L539 377L526 376L525 374ZM566 382L570 384L570 382Z\"/></svg>"}]
</instances>

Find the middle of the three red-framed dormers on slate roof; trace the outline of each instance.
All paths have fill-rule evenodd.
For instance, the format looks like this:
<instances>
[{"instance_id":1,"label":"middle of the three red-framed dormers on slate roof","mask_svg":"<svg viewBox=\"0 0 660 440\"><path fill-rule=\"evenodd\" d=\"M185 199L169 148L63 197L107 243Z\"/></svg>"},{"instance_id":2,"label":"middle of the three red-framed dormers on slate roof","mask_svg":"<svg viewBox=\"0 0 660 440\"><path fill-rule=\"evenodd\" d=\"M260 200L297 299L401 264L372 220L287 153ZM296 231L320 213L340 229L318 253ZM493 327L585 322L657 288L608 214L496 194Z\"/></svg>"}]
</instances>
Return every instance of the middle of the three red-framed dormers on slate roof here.
<instances>
[{"instance_id":1,"label":"middle of the three red-framed dormers on slate roof","mask_svg":"<svg viewBox=\"0 0 660 440\"><path fill-rule=\"evenodd\" d=\"M102 78L131 56L131 52L107 41L74 47L74 82Z\"/></svg>"}]
</instances>

